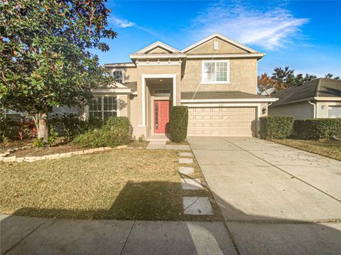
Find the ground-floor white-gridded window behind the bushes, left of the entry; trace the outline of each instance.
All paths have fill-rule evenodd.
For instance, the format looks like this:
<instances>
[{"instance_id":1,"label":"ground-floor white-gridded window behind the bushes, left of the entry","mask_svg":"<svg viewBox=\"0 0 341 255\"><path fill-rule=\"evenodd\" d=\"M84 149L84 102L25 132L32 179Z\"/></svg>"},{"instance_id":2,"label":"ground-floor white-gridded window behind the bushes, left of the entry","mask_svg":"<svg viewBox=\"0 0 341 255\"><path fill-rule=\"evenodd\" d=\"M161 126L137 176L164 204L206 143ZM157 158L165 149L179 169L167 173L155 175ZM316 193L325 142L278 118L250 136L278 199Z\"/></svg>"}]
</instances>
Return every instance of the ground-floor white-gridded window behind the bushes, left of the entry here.
<instances>
[{"instance_id":1,"label":"ground-floor white-gridded window behind the bushes, left of the entry","mask_svg":"<svg viewBox=\"0 0 341 255\"><path fill-rule=\"evenodd\" d=\"M117 116L117 97L97 96L92 98L89 104L89 116L98 116L104 120L108 119L109 116Z\"/></svg>"}]
</instances>

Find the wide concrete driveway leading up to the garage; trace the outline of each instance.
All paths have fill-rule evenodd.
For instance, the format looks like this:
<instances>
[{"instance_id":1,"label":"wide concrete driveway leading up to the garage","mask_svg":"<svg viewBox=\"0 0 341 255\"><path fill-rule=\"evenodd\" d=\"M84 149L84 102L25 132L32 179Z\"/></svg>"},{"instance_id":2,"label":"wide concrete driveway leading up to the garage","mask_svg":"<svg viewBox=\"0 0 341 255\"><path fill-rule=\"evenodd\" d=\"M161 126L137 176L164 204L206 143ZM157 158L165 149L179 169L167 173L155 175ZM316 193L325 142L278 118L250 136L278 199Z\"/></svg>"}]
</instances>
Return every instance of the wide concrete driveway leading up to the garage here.
<instances>
[{"instance_id":1,"label":"wide concrete driveway leading up to the garage","mask_svg":"<svg viewBox=\"0 0 341 255\"><path fill-rule=\"evenodd\" d=\"M240 254L339 254L341 161L255 138L188 138Z\"/></svg>"}]
</instances>

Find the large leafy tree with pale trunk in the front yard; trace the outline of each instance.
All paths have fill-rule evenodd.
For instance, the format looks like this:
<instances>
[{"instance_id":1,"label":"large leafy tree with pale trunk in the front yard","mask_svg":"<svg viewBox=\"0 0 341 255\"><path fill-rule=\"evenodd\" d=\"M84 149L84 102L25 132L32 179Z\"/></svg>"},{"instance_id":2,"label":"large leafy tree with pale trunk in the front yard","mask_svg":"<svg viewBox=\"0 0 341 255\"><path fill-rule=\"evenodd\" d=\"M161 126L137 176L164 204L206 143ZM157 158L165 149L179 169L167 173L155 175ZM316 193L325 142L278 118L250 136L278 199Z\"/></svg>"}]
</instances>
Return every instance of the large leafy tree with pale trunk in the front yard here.
<instances>
[{"instance_id":1,"label":"large leafy tree with pale trunk in the front yard","mask_svg":"<svg viewBox=\"0 0 341 255\"><path fill-rule=\"evenodd\" d=\"M38 116L38 137L48 138L54 106L82 106L91 89L106 85L91 48L109 50L105 1L0 1L0 104Z\"/></svg>"}]
</instances>

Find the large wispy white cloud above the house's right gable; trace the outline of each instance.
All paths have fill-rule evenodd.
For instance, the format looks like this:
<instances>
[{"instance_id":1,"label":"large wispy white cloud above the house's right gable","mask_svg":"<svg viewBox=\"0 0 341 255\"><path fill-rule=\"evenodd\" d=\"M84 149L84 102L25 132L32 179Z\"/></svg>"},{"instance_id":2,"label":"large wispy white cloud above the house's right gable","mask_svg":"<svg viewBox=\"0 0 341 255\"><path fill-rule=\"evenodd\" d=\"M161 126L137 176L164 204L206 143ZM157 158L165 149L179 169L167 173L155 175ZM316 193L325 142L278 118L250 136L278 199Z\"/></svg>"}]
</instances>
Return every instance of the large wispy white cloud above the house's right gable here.
<instances>
[{"instance_id":1,"label":"large wispy white cloud above the house's right gable","mask_svg":"<svg viewBox=\"0 0 341 255\"><path fill-rule=\"evenodd\" d=\"M283 7L261 9L220 2L198 14L190 34L200 39L219 32L241 43L274 49L300 37L300 28L307 22L307 18L296 18Z\"/></svg>"}]
</instances>

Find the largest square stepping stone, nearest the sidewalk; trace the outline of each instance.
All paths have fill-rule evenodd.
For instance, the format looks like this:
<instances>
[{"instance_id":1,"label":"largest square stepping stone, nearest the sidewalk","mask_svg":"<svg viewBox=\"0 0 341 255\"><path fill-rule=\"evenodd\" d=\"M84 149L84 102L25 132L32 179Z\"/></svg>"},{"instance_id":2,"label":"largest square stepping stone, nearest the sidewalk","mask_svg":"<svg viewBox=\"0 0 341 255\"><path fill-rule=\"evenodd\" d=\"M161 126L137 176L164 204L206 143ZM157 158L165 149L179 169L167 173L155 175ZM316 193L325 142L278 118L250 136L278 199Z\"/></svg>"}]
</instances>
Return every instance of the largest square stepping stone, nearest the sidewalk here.
<instances>
[{"instance_id":1,"label":"largest square stepping stone, nearest the sidewalk","mask_svg":"<svg viewBox=\"0 0 341 255\"><path fill-rule=\"evenodd\" d=\"M213 215L208 197L183 197L185 215Z\"/></svg>"}]
</instances>

